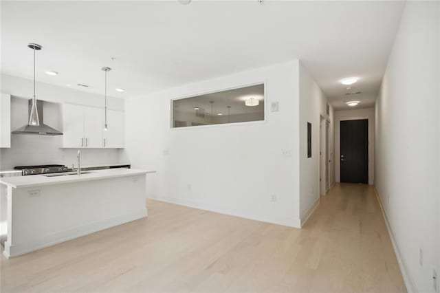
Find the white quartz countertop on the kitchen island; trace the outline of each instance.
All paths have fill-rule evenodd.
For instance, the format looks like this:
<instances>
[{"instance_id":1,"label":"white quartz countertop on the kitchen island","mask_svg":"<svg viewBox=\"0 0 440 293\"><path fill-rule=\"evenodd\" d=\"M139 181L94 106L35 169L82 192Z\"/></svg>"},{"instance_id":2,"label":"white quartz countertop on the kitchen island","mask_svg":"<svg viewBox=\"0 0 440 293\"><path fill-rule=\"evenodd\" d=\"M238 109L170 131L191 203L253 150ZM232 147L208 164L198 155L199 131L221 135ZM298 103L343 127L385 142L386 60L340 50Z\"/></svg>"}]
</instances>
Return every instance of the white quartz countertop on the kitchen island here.
<instances>
[{"instance_id":1,"label":"white quartz countertop on the kitchen island","mask_svg":"<svg viewBox=\"0 0 440 293\"><path fill-rule=\"evenodd\" d=\"M82 182L88 180L100 180L100 179L106 179L112 177L142 175L147 173L155 173L156 171L117 168L117 169L105 169L105 170L94 170L94 171L84 171L84 172L87 173L81 175L75 174L75 175L63 175L63 176L52 176L52 177L47 176L51 174L3 177L0 179L0 184L5 184L7 186L11 186L12 188L22 188L22 187L43 186L50 184ZM56 174L61 174L61 173L56 173Z\"/></svg>"}]
</instances>

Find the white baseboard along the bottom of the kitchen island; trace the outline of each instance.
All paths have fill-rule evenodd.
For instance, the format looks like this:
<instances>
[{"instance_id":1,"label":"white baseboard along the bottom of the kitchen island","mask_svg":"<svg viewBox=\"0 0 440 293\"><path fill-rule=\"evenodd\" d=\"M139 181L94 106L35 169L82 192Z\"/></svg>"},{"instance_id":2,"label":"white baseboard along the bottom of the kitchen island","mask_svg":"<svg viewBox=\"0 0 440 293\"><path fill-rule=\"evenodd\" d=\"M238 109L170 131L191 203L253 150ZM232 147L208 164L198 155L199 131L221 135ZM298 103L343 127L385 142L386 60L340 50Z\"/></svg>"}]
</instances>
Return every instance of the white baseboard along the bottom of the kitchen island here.
<instances>
[{"instance_id":1,"label":"white baseboard along the bottom of the kitchen island","mask_svg":"<svg viewBox=\"0 0 440 293\"><path fill-rule=\"evenodd\" d=\"M81 236L85 236L100 230L111 228L113 226L118 226L120 224L127 223L129 221L134 221L136 219L141 219L146 217L146 208L138 210L133 213L126 215L120 215L118 217L113 217L110 219L104 219L101 221L96 221L84 226L75 227L69 230L64 230L61 232L56 232L51 235L45 235L39 237L38 239L30 239L26 243L19 243L10 245L9 239L5 242L5 250L3 255L7 258L17 257L21 254L32 252L34 250L39 250L41 248L46 248L48 246L53 246L55 244L72 240Z\"/></svg>"}]
</instances>

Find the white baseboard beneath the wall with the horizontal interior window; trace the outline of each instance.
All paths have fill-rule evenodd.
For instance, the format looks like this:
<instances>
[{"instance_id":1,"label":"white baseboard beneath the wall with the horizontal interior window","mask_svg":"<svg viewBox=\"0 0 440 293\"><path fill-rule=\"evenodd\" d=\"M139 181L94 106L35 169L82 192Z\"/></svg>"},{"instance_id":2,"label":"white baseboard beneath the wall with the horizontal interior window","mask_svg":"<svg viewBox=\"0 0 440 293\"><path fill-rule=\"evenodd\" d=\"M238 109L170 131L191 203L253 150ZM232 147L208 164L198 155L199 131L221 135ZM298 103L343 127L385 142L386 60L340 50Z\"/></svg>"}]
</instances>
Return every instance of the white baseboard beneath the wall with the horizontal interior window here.
<instances>
[{"instance_id":1,"label":"white baseboard beneath the wall with the horizontal interior window","mask_svg":"<svg viewBox=\"0 0 440 293\"><path fill-rule=\"evenodd\" d=\"M263 221L270 224L277 224L282 226L289 226L292 228L301 228L300 220L294 217L280 217L273 215L246 215L236 210L223 208L219 206L210 206L202 202L190 201L188 199L177 199L175 197L156 197L155 200L159 202L168 202L170 204L178 204L179 206L188 206L189 208L197 208L200 210L209 210L210 212L219 213L223 215L230 215L234 217L241 217L244 219L252 219L254 221Z\"/></svg>"}]
</instances>

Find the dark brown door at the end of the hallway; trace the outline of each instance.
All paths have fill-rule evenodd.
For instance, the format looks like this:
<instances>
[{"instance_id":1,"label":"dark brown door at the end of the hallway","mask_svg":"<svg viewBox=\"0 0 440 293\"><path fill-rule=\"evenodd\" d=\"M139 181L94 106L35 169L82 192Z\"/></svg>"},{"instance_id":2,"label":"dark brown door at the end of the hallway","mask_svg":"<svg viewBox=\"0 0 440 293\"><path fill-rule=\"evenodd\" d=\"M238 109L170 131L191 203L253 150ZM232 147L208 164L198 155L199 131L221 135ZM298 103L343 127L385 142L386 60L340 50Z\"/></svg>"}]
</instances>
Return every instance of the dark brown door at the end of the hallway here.
<instances>
[{"instance_id":1,"label":"dark brown door at the end of the hallway","mask_svg":"<svg viewBox=\"0 0 440 293\"><path fill-rule=\"evenodd\" d=\"M369 120L340 122L341 182L369 183Z\"/></svg>"}]
</instances>

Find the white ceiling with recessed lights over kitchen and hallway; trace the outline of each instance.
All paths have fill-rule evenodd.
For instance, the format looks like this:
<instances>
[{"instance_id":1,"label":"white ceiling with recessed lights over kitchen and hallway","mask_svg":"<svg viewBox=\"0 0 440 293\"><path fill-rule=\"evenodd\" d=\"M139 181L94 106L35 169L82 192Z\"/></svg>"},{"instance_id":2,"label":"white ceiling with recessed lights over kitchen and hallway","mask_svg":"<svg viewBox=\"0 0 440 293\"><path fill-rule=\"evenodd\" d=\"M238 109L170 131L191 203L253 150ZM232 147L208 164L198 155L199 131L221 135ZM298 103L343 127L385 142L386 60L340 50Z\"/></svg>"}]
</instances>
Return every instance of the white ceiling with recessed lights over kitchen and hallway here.
<instances>
[{"instance_id":1,"label":"white ceiling with recessed lights over kitchen and hallway","mask_svg":"<svg viewBox=\"0 0 440 293\"><path fill-rule=\"evenodd\" d=\"M331 104L374 103L404 2L1 1L1 72L126 97L299 58ZM115 61L111 61L115 57ZM46 70L59 72L47 76ZM90 85L79 88L77 83ZM122 94L114 91L123 87Z\"/></svg>"}]
</instances>

